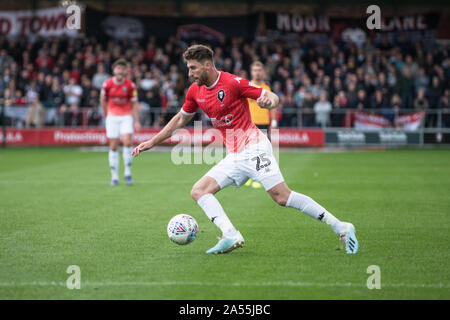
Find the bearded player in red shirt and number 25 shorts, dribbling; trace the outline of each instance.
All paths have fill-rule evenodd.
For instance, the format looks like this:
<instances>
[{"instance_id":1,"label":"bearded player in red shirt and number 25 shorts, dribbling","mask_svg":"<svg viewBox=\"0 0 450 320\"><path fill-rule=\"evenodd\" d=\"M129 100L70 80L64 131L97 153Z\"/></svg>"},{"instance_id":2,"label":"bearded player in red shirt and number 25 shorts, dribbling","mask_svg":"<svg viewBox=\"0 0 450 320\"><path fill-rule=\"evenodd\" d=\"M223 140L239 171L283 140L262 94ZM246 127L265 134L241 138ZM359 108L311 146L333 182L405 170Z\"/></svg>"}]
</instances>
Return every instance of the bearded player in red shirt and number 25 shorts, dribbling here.
<instances>
[{"instance_id":1,"label":"bearded player in red shirt and number 25 shorts, dribbling","mask_svg":"<svg viewBox=\"0 0 450 320\"><path fill-rule=\"evenodd\" d=\"M229 185L239 187L249 178L261 182L280 206L298 209L330 225L347 253L356 253L358 242L354 226L339 221L310 197L289 189L273 156L271 143L252 122L247 99L254 99L259 106L271 109L278 105L277 95L257 88L241 77L219 72L214 66L213 54L203 45L193 45L184 52L189 77L195 83L190 86L181 111L155 137L137 146L133 155L169 138L201 108L222 133L228 151L227 156L197 181L191 191L192 198L222 231L219 242L206 253L226 253L244 245L244 238L214 194Z\"/></svg>"}]
</instances>

